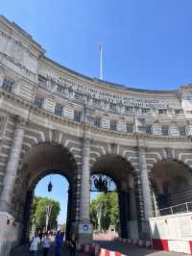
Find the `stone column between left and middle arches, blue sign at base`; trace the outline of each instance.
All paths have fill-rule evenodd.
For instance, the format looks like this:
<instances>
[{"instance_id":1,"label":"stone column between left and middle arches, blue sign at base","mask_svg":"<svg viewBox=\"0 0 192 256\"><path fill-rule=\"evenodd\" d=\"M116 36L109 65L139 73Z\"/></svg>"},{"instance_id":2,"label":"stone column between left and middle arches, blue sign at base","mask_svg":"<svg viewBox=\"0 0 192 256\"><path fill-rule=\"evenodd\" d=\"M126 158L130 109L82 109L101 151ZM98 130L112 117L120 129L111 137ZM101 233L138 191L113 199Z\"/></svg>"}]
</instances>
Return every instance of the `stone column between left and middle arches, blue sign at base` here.
<instances>
[{"instance_id":1,"label":"stone column between left and middle arches, blue sign at base","mask_svg":"<svg viewBox=\"0 0 192 256\"><path fill-rule=\"evenodd\" d=\"M89 218L90 205L90 138L83 139L83 159L80 197L79 242L92 242L92 225Z\"/></svg>"}]
</instances>

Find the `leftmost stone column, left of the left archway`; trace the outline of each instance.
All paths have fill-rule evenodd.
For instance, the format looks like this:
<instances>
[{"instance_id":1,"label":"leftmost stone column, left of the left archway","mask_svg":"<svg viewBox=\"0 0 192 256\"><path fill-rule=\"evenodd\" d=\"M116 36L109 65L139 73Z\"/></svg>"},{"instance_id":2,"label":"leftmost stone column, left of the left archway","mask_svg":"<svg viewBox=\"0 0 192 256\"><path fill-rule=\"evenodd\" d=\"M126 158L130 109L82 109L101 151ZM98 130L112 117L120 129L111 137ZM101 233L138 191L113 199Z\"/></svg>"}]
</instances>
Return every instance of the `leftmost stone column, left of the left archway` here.
<instances>
[{"instance_id":1,"label":"leftmost stone column, left of the left archway","mask_svg":"<svg viewBox=\"0 0 192 256\"><path fill-rule=\"evenodd\" d=\"M0 195L0 211L6 213L11 213L12 193L24 138L24 126L24 120L17 117L12 139L12 148L3 181L3 190Z\"/></svg>"}]
</instances>

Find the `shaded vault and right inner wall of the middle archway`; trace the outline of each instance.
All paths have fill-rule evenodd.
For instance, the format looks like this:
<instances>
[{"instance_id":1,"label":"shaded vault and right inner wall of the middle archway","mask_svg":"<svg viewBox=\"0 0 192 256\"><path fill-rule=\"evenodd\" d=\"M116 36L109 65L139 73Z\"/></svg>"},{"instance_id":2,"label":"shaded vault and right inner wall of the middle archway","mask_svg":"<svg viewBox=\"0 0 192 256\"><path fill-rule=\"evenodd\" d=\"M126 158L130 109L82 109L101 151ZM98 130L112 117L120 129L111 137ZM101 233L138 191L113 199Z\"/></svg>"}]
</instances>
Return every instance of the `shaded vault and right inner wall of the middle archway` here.
<instances>
[{"instance_id":1,"label":"shaded vault and right inner wall of the middle archway","mask_svg":"<svg viewBox=\"0 0 192 256\"><path fill-rule=\"evenodd\" d=\"M91 168L92 175L95 173L105 174L112 179L117 187L122 238L138 237L133 172L134 169L130 162L113 154L100 157Z\"/></svg>"}]
</instances>

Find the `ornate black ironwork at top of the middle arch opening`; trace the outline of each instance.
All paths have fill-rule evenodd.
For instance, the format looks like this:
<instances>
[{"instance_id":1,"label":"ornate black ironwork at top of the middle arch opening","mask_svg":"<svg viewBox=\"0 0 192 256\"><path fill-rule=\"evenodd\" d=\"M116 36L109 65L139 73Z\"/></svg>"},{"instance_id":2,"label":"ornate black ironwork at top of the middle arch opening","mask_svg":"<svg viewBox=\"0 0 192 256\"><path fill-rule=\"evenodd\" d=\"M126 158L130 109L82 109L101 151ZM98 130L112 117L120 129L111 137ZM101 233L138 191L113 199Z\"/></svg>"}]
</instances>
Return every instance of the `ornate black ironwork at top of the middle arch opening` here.
<instances>
[{"instance_id":1,"label":"ornate black ironwork at top of the middle arch opening","mask_svg":"<svg viewBox=\"0 0 192 256\"><path fill-rule=\"evenodd\" d=\"M92 176L91 192L112 192L114 190L110 189L111 182L112 179L109 178L107 175L100 173L94 174Z\"/></svg>"}]
</instances>

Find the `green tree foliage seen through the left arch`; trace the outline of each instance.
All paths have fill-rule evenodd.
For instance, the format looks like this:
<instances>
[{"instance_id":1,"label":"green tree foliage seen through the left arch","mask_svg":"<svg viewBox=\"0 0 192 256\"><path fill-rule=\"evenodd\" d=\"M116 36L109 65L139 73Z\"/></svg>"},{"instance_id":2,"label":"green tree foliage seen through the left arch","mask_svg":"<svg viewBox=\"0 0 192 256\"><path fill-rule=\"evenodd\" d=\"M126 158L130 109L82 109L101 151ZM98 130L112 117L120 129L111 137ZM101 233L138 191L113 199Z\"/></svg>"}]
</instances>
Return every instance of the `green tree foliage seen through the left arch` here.
<instances>
[{"instance_id":1,"label":"green tree foliage seen through the left arch","mask_svg":"<svg viewBox=\"0 0 192 256\"><path fill-rule=\"evenodd\" d=\"M57 218L60 214L60 202L48 197L34 197L32 203L31 222L36 225L36 229L43 230L46 223L46 206L51 205L51 215L49 218L48 229L57 227Z\"/></svg>"}]
</instances>

